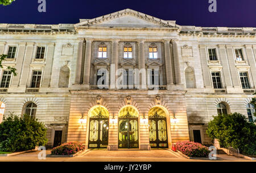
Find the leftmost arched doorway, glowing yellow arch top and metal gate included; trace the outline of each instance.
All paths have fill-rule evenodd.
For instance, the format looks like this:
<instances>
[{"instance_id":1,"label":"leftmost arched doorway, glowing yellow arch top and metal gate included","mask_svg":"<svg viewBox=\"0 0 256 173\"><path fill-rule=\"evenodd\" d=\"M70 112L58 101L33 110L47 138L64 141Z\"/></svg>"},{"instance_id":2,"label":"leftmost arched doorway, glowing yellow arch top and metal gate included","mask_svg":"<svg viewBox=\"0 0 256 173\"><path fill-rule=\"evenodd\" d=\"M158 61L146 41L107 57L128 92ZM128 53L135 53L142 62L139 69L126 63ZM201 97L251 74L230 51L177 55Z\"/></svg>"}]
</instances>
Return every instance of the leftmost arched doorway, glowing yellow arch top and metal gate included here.
<instances>
[{"instance_id":1,"label":"leftmost arched doorway, glowing yellow arch top and metal gate included","mask_svg":"<svg viewBox=\"0 0 256 173\"><path fill-rule=\"evenodd\" d=\"M97 106L89 111L89 149L108 147L109 112L105 107Z\"/></svg>"}]
</instances>

